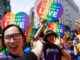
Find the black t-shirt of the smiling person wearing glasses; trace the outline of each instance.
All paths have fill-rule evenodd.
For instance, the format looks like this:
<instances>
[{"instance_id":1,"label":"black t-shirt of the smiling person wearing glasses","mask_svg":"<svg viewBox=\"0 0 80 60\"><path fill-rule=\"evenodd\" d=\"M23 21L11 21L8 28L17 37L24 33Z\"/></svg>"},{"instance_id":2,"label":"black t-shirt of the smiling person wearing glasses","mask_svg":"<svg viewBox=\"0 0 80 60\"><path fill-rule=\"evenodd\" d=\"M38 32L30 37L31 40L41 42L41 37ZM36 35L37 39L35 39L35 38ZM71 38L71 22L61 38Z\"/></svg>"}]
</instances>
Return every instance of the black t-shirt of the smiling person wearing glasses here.
<instances>
[{"instance_id":1,"label":"black t-shirt of the smiling person wearing glasses","mask_svg":"<svg viewBox=\"0 0 80 60\"><path fill-rule=\"evenodd\" d=\"M14 56L12 55L13 58L1 58L0 60L37 60L37 56L33 52L29 52L25 54L24 56Z\"/></svg>"}]
</instances>

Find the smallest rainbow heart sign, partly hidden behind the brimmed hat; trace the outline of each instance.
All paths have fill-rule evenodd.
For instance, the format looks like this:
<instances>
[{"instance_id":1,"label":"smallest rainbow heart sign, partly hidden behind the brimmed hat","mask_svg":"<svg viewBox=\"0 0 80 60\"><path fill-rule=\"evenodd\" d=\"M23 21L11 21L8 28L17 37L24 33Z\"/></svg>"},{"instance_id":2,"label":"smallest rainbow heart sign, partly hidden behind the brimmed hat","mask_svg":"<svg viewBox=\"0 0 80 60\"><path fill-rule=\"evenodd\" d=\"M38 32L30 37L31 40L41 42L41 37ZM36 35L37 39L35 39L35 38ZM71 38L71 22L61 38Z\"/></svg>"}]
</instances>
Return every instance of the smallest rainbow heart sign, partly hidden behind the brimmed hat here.
<instances>
[{"instance_id":1,"label":"smallest rainbow heart sign, partly hidden behind the brimmed hat","mask_svg":"<svg viewBox=\"0 0 80 60\"><path fill-rule=\"evenodd\" d=\"M48 28L52 28L54 32L58 34L58 36L62 37L65 32L64 25L61 23L51 22L48 24Z\"/></svg>"}]
</instances>

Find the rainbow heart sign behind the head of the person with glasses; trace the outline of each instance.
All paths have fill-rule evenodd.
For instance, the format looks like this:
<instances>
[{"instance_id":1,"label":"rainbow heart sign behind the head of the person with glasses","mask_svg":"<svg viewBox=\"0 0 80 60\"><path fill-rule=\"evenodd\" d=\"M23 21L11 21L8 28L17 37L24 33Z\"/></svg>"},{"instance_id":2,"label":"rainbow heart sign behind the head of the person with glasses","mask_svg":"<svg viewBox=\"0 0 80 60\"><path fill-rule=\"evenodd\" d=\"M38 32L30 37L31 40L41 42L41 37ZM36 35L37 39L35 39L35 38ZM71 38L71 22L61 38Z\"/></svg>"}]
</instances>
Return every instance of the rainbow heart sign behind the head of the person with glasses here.
<instances>
[{"instance_id":1,"label":"rainbow heart sign behind the head of the person with glasses","mask_svg":"<svg viewBox=\"0 0 80 60\"><path fill-rule=\"evenodd\" d=\"M25 12L19 12L17 14L7 13L2 18L1 27L4 28L9 24L16 24L20 26L20 28L24 32L30 24L30 19Z\"/></svg>"}]
</instances>

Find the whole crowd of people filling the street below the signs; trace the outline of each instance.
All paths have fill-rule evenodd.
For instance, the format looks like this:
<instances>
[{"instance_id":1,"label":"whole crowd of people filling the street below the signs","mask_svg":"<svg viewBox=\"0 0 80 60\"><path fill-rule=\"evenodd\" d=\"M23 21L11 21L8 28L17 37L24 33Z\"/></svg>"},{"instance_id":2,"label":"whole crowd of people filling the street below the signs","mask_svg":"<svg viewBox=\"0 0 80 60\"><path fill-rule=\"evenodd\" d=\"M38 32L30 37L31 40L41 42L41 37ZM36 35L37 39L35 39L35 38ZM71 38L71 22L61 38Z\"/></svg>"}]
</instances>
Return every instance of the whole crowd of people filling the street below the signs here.
<instances>
[{"instance_id":1,"label":"whole crowd of people filling the street below the signs","mask_svg":"<svg viewBox=\"0 0 80 60\"><path fill-rule=\"evenodd\" d=\"M65 26L64 35L59 38L51 28L44 30L40 38L45 20L30 42L31 50L25 52L26 39L22 30L15 24L6 26L0 35L0 60L80 60L80 34L77 30L70 31ZM80 27L80 22L76 21Z\"/></svg>"}]
</instances>

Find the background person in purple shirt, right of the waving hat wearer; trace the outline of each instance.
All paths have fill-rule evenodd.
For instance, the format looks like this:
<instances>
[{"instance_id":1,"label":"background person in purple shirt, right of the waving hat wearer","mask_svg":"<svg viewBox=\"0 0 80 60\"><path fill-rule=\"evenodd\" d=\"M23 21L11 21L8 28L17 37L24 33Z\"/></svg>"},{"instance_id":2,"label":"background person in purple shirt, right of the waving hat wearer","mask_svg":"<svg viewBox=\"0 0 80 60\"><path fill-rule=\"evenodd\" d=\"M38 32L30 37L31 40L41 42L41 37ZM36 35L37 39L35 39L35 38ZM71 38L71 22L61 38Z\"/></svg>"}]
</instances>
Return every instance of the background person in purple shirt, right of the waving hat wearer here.
<instances>
[{"instance_id":1,"label":"background person in purple shirt, right of the waving hat wearer","mask_svg":"<svg viewBox=\"0 0 80 60\"><path fill-rule=\"evenodd\" d=\"M78 55L78 50L76 47L76 43L71 37L68 39L68 42L66 43L66 47L67 47L67 51L70 53L71 60L76 60Z\"/></svg>"}]
</instances>

